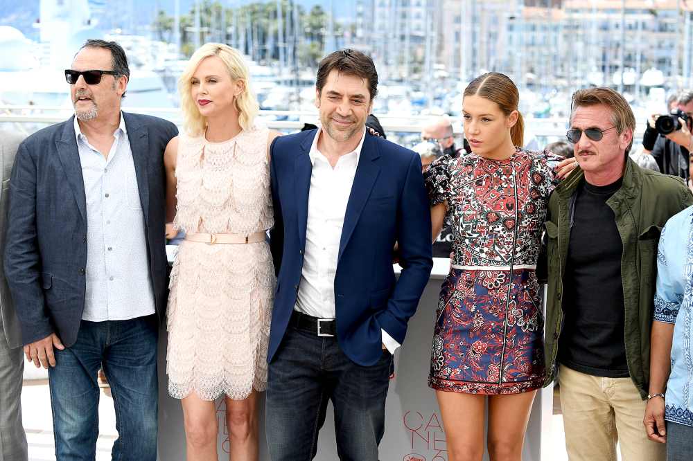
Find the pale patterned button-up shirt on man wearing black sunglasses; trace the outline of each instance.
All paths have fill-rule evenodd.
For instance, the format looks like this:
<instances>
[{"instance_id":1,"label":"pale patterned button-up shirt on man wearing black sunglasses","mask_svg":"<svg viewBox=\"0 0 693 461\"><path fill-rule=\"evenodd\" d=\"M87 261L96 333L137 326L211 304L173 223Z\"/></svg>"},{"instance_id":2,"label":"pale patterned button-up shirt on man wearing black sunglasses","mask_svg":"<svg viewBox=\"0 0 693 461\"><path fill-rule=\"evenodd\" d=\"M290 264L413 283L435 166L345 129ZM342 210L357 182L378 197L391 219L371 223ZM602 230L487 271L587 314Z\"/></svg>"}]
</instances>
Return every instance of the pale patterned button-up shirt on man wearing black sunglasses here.
<instances>
[{"instance_id":1,"label":"pale patterned button-up shirt on man wearing black sunglasses","mask_svg":"<svg viewBox=\"0 0 693 461\"><path fill-rule=\"evenodd\" d=\"M87 293L82 320L128 320L154 314L144 213L123 114L107 158L89 144L74 120L87 198Z\"/></svg>"}]
</instances>

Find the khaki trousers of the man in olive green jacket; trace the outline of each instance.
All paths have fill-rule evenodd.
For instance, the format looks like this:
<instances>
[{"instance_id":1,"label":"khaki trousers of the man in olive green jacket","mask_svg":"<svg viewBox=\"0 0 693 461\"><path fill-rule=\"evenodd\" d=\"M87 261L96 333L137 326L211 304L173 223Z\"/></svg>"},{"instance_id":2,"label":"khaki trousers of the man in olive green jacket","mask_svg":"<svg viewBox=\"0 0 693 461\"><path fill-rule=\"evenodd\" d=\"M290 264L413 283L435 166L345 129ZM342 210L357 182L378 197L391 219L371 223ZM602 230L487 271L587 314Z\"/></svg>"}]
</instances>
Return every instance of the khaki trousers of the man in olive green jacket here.
<instances>
[{"instance_id":1,"label":"khaki trousers of the man in olive green jacket","mask_svg":"<svg viewBox=\"0 0 693 461\"><path fill-rule=\"evenodd\" d=\"M647 438L642 417L647 401L630 378L590 376L561 365L561 410L570 461L664 461L665 444Z\"/></svg>"}]
</instances>

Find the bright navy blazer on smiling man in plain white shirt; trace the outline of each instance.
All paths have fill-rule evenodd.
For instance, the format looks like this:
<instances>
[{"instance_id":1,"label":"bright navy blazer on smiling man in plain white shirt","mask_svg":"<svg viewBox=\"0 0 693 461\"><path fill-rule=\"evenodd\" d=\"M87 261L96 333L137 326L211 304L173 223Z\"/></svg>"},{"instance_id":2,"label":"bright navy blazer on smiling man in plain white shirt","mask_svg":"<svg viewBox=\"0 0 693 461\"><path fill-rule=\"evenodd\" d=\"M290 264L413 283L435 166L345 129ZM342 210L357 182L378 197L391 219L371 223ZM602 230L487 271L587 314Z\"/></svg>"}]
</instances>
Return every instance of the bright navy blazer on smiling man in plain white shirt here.
<instances>
[{"instance_id":1,"label":"bright navy blazer on smiling man in plain white shirt","mask_svg":"<svg viewBox=\"0 0 693 461\"><path fill-rule=\"evenodd\" d=\"M280 136L270 148L277 293L267 361L281 347L296 304L306 248L310 147L317 130ZM392 269L394 244L403 271ZM344 216L335 275L337 341L349 359L374 365L385 329L403 343L433 266L431 219L421 158L367 135Z\"/></svg>"}]
</instances>

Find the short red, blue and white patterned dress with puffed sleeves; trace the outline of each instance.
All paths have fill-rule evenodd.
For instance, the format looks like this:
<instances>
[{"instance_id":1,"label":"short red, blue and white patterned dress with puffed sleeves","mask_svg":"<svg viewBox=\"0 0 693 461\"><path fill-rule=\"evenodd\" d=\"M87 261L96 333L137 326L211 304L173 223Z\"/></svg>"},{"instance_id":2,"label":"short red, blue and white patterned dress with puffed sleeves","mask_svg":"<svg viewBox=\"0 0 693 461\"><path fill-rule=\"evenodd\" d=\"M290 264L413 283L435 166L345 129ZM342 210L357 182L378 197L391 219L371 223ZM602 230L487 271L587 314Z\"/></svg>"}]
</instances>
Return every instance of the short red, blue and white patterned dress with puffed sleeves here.
<instances>
[{"instance_id":1,"label":"short red, blue and white patterned dress with puffed sleeves","mask_svg":"<svg viewBox=\"0 0 693 461\"><path fill-rule=\"evenodd\" d=\"M430 387L488 395L541 387L543 314L534 271L560 160L518 149L504 161L442 156L426 171L430 203L447 204L453 229Z\"/></svg>"}]
</instances>

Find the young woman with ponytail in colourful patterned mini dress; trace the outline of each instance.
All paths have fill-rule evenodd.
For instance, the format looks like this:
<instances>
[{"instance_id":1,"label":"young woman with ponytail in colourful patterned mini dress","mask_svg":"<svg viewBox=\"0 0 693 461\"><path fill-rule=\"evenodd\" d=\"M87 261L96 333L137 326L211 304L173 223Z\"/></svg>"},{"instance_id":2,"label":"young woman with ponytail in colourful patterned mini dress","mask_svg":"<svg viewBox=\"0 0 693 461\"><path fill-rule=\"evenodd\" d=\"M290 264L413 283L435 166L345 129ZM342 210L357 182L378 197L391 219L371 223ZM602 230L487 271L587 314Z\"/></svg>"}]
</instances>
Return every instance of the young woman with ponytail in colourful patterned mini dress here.
<instances>
[{"instance_id":1,"label":"young woman with ponytail in colourful patterned mini dress","mask_svg":"<svg viewBox=\"0 0 693 461\"><path fill-rule=\"evenodd\" d=\"M428 379L450 461L482 460L486 396L491 460L520 461L545 377L539 240L549 194L575 163L523 150L518 100L506 75L475 78L462 102L471 154L442 156L425 174L433 237L444 222L454 236Z\"/></svg>"}]
</instances>

